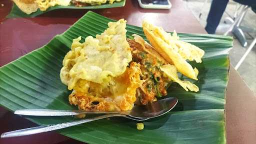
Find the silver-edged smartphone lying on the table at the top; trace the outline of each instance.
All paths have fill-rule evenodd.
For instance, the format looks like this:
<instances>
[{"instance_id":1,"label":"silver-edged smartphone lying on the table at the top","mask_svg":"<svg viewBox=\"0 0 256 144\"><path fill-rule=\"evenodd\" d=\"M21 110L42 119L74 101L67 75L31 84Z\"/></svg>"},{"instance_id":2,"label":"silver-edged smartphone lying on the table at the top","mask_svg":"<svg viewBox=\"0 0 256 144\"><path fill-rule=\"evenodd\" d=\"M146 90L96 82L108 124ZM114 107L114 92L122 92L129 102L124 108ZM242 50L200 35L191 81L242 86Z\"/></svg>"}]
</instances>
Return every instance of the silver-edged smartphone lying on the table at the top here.
<instances>
[{"instance_id":1,"label":"silver-edged smartphone lying on the table at the top","mask_svg":"<svg viewBox=\"0 0 256 144\"><path fill-rule=\"evenodd\" d=\"M166 2L166 3L163 3L163 2ZM171 3L169 0L138 0L138 4L142 8L152 8L152 9L170 9L171 7Z\"/></svg>"}]
</instances>

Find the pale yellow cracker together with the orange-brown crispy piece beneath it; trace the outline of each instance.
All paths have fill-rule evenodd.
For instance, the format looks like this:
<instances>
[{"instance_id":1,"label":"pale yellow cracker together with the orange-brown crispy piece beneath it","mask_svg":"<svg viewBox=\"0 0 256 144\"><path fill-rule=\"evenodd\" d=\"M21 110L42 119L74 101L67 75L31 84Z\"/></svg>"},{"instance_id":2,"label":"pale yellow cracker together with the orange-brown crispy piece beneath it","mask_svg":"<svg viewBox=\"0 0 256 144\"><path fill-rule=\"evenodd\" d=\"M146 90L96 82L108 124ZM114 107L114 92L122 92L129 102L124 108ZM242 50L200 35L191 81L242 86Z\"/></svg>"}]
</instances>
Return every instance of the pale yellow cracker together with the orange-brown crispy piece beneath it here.
<instances>
[{"instance_id":1,"label":"pale yellow cracker together with the orange-brown crispy piece beneath it","mask_svg":"<svg viewBox=\"0 0 256 144\"><path fill-rule=\"evenodd\" d=\"M84 110L125 111L136 100L141 84L140 64L131 61L126 21L109 22L96 35L73 39L60 70L62 83L73 89L69 102ZM130 62L130 63L129 63ZM129 64L129 67L128 67Z\"/></svg>"}]
</instances>

